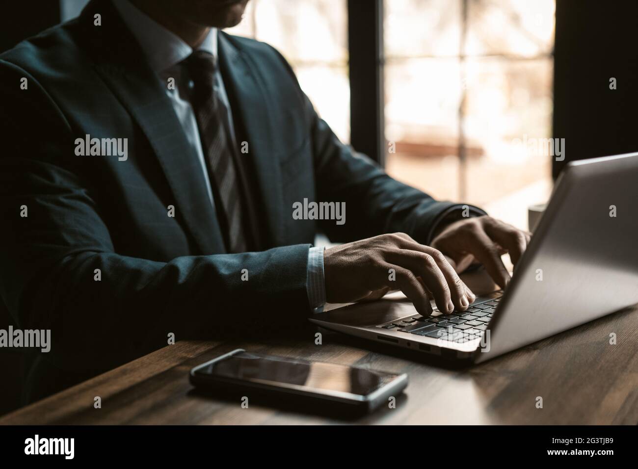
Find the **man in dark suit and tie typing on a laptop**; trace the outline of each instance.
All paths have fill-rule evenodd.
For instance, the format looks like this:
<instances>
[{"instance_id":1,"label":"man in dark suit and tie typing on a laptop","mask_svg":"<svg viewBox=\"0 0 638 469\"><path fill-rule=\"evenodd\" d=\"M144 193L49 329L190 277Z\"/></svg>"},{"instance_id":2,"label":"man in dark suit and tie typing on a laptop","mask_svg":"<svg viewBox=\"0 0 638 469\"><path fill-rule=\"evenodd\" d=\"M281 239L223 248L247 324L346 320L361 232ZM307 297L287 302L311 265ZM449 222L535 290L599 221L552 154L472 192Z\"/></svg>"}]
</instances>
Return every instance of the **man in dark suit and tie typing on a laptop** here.
<instances>
[{"instance_id":1,"label":"man in dark suit and tie typing on a laptop","mask_svg":"<svg viewBox=\"0 0 638 469\"><path fill-rule=\"evenodd\" d=\"M528 235L341 144L276 50L218 31L246 1L93 0L0 55L0 292L52 338L32 398L168 334L304 322L390 288L423 314L429 297L465 309L475 260L507 284L500 255L516 263ZM318 230L346 244L313 248Z\"/></svg>"}]
</instances>

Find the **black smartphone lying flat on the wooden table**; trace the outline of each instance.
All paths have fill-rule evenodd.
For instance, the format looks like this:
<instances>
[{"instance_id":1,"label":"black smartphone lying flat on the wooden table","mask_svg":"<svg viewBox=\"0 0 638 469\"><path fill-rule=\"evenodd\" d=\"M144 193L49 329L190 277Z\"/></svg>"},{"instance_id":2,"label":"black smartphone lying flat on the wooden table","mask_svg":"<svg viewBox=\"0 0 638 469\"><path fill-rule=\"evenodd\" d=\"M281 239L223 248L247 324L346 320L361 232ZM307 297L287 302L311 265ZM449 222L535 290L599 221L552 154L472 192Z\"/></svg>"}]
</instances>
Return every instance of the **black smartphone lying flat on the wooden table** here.
<instances>
[{"instance_id":1,"label":"black smartphone lying flat on the wooden table","mask_svg":"<svg viewBox=\"0 0 638 469\"><path fill-rule=\"evenodd\" d=\"M190 381L235 399L254 396L258 403L278 401L302 406L301 410L312 406L313 410L366 413L389 405L392 397L397 399L408 385L408 376L238 348L191 369Z\"/></svg>"}]
</instances>

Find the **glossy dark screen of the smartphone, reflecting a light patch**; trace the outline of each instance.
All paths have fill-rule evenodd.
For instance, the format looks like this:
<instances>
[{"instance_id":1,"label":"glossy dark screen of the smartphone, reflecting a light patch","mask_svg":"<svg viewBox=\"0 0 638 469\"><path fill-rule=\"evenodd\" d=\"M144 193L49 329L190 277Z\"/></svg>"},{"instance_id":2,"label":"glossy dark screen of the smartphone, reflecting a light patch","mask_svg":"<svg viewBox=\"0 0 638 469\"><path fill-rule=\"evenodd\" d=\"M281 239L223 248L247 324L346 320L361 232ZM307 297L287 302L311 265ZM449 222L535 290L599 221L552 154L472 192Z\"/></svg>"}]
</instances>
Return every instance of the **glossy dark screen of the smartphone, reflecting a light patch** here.
<instances>
[{"instance_id":1,"label":"glossy dark screen of the smartphone, reflecting a light patch","mask_svg":"<svg viewBox=\"0 0 638 469\"><path fill-rule=\"evenodd\" d=\"M334 363L298 361L249 352L239 352L203 366L195 374L303 389L316 394L347 393L355 396L366 396L397 377Z\"/></svg>"}]
</instances>

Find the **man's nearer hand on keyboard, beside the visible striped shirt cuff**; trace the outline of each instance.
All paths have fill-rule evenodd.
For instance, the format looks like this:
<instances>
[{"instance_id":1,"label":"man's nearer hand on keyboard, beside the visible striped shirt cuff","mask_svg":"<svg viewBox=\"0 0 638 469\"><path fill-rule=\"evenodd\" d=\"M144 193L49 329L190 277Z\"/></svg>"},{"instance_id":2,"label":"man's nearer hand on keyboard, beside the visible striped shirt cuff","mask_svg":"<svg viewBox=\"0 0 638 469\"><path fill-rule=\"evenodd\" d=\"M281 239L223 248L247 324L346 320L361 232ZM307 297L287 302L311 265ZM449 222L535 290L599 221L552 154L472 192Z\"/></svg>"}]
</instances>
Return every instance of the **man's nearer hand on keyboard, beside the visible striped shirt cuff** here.
<instances>
[{"instance_id":1,"label":"man's nearer hand on keyboard, beside the visible striped shirt cuff","mask_svg":"<svg viewBox=\"0 0 638 469\"><path fill-rule=\"evenodd\" d=\"M399 289L421 315L427 316L432 312L429 297L443 313L464 310L475 300L440 251L404 233L326 249L323 269L330 303L377 298L390 289Z\"/></svg>"}]
</instances>

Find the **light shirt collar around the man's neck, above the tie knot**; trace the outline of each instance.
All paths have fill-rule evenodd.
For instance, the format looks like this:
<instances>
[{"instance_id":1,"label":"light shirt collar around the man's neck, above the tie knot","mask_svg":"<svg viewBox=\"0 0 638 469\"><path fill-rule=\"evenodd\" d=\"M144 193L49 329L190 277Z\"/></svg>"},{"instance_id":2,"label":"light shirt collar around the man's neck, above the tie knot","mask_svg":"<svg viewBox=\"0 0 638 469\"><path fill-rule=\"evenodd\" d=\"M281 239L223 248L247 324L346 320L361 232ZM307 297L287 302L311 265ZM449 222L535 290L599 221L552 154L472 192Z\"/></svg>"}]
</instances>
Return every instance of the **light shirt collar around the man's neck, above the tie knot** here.
<instances>
[{"instance_id":1,"label":"light shirt collar around the man's neck, above the tie knot","mask_svg":"<svg viewBox=\"0 0 638 469\"><path fill-rule=\"evenodd\" d=\"M160 73L180 63L193 53L186 42L158 22L140 11L129 0L114 0L115 8L142 47L151 68ZM217 29L211 27L208 35L197 48L212 54L217 60Z\"/></svg>"}]
</instances>

